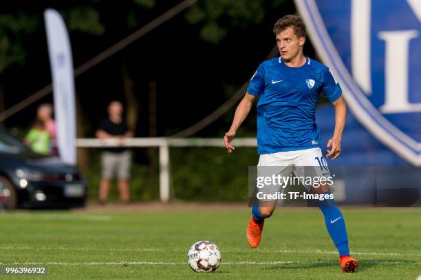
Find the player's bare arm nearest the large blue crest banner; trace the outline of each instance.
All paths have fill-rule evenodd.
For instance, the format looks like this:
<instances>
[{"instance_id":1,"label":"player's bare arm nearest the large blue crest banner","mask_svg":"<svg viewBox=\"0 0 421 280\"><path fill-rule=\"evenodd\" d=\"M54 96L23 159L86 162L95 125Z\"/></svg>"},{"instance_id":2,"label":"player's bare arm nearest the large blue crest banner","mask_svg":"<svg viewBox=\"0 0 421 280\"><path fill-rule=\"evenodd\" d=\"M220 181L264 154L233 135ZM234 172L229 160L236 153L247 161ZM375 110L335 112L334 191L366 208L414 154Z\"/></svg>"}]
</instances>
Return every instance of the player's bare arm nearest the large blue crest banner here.
<instances>
[{"instance_id":1,"label":"player's bare arm nearest the large blue crest banner","mask_svg":"<svg viewBox=\"0 0 421 280\"><path fill-rule=\"evenodd\" d=\"M338 100L332 102L335 107L335 130L333 137L327 142L327 147L332 147L327 150L327 157L336 159L341 154L341 140L343 128L345 128L345 121L347 119L347 105L343 100L343 97L339 97Z\"/></svg>"}]
</instances>

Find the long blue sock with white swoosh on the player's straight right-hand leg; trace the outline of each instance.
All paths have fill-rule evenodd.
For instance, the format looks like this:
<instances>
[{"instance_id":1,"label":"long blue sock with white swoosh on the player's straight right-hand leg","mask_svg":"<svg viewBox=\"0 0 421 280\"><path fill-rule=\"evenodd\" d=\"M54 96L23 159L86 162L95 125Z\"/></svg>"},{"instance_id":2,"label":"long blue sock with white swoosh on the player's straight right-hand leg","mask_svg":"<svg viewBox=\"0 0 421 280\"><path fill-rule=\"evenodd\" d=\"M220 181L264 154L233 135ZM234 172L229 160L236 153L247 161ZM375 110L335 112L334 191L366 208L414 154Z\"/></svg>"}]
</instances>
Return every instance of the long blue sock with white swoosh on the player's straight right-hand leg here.
<instances>
[{"instance_id":1,"label":"long blue sock with white swoosh on the player's straight right-hand leg","mask_svg":"<svg viewBox=\"0 0 421 280\"><path fill-rule=\"evenodd\" d=\"M329 194L324 192L323 194ZM327 232L332 237L332 240L338 248L339 256L349 255L347 228L345 227L345 220L338 207L335 205L335 200L324 200L319 203L319 209L325 215L325 224Z\"/></svg>"}]
</instances>

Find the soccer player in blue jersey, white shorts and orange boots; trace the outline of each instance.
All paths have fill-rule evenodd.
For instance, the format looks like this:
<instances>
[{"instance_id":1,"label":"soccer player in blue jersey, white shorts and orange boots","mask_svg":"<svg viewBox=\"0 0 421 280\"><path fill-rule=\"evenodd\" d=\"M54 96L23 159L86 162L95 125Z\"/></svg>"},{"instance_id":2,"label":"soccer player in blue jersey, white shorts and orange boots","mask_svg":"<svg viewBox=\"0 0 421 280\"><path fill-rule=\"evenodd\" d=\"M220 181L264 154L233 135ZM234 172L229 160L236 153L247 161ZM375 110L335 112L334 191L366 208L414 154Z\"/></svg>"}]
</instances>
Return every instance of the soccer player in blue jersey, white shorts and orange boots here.
<instances>
[{"instance_id":1,"label":"soccer player in blue jersey, white shorts and orange boots","mask_svg":"<svg viewBox=\"0 0 421 280\"><path fill-rule=\"evenodd\" d=\"M250 108L257 103L258 167L279 166L296 174L298 167L319 167L319 176L328 174L321 151L321 135L315 123L316 104L323 93L335 108L334 135L327 143L327 157L334 160L341 154L341 137L345 126L346 106L341 87L325 65L303 55L305 25L296 15L287 15L274 24L280 57L264 61L252 76L246 95L241 100L233 124L224 136L231 153L231 141ZM330 150L329 150L330 149ZM288 168L287 168L288 167ZM305 170L305 169L304 169ZM314 168L314 170L316 170ZM288 174L285 174L288 176ZM314 194L329 194L328 186L312 187ZM255 205L248 224L247 241L256 248L261 240L263 224L272 215L277 200ZM319 205L327 231L339 252L343 272L354 272L358 261L349 255L347 231L341 211L333 199Z\"/></svg>"}]
</instances>

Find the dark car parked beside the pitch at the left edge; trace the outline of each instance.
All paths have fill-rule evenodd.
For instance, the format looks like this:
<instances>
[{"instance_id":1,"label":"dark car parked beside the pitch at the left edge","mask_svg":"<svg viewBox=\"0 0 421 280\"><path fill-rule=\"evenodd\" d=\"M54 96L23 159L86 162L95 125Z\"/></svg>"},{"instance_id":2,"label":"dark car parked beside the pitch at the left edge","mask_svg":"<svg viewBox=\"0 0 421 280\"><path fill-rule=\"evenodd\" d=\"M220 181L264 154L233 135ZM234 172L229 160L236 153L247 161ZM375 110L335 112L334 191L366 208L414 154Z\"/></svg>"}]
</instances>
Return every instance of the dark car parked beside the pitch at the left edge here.
<instances>
[{"instance_id":1,"label":"dark car parked beside the pitch at the left edge","mask_svg":"<svg viewBox=\"0 0 421 280\"><path fill-rule=\"evenodd\" d=\"M0 127L0 208L83 207L86 195L77 167L32 152Z\"/></svg>"}]
</instances>

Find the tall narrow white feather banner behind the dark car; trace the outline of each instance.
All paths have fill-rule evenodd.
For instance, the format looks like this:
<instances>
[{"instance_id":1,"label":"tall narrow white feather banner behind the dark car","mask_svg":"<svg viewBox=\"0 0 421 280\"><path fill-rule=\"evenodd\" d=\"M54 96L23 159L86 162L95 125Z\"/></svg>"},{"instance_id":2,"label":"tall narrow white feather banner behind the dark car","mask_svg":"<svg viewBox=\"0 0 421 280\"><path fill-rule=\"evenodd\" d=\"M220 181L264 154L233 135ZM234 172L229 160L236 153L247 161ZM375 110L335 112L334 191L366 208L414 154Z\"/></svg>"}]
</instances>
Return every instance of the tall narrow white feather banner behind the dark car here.
<instances>
[{"instance_id":1,"label":"tall narrow white feather banner behind the dark car","mask_svg":"<svg viewBox=\"0 0 421 280\"><path fill-rule=\"evenodd\" d=\"M76 165L76 108L69 34L63 18L56 10L45 10L44 18L54 92L58 152L63 162Z\"/></svg>"}]
</instances>

